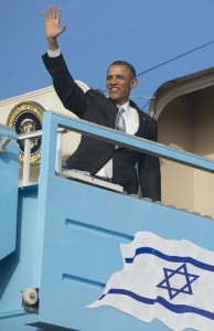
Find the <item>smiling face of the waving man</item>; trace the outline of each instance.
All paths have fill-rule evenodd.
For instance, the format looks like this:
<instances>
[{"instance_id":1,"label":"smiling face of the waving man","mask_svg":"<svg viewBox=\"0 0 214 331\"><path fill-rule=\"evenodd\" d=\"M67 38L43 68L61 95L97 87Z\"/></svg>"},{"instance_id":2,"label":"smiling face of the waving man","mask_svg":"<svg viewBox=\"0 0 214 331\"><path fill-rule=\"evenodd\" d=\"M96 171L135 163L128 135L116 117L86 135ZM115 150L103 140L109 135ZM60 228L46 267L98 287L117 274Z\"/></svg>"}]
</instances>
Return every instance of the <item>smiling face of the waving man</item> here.
<instances>
[{"instance_id":1,"label":"smiling face of the waving man","mask_svg":"<svg viewBox=\"0 0 214 331\"><path fill-rule=\"evenodd\" d=\"M128 102L130 90L137 86L137 78L132 78L125 65L111 65L107 72L106 87L110 99L118 105Z\"/></svg>"}]
</instances>

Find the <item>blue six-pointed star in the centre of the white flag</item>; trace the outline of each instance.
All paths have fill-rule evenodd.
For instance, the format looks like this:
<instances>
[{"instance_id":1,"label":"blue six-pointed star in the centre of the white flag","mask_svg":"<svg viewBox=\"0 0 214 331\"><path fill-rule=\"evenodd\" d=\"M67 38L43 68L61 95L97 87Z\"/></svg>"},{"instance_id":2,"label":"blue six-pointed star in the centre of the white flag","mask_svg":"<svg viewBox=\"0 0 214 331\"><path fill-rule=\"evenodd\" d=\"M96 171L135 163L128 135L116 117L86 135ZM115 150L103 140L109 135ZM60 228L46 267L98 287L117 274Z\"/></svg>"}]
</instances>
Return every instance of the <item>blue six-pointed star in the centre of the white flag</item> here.
<instances>
[{"instance_id":1,"label":"blue six-pointed star in the centre of the white flag","mask_svg":"<svg viewBox=\"0 0 214 331\"><path fill-rule=\"evenodd\" d=\"M172 300L180 293L193 295L191 284L195 281L200 276L189 274L185 264L181 265L175 270L163 268L163 273L165 278L159 285L157 285L157 287L167 289L170 296L170 300ZM175 278L176 284L174 281Z\"/></svg>"}]
</instances>

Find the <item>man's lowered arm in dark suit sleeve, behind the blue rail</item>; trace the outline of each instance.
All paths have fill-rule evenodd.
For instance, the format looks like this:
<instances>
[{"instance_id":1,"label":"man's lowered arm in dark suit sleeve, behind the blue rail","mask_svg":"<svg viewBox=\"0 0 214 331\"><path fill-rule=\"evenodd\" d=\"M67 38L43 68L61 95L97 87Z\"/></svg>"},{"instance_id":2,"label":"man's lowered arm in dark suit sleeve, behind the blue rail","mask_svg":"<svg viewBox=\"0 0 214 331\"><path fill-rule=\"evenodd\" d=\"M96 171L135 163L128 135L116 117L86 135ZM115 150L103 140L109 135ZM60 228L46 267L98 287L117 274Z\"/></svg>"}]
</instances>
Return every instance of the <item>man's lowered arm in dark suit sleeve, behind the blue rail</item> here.
<instances>
[{"instance_id":1,"label":"man's lowered arm in dark suit sleeve, behind the blue rail","mask_svg":"<svg viewBox=\"0 0 214 331\"><path fill-rule=\"evenodd\" d=\"M157 121L151 120L151 134L149 137L152 141L158 141ZM152 201L161 201L161 174L159 158L142 153L138 161L139 182L142 197L150 197Z\"/></svg>"}]
</instances>

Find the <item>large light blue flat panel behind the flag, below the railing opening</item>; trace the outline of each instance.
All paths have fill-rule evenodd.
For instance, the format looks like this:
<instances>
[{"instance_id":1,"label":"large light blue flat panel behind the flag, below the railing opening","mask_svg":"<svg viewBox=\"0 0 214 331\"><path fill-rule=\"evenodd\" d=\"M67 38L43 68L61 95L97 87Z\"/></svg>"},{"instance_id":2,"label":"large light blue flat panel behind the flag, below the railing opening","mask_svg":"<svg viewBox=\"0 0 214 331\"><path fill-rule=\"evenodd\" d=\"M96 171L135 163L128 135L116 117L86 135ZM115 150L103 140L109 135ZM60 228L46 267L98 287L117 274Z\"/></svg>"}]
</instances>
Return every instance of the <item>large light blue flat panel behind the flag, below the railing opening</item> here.
<instances>
[{"instance_id":1,"label":"large light blue flat panel behind the flag, below the railing opening","mask_svg":"<svg viewBox=\"0 0 214 331\"><path fill-rule=\"evenodd\" d=\"M214 223L207 218L50 175L39 320L84 331L168 330L114 308L86 308L122 268L119 244L137 231L214 249Z\"/></svg>"}]
</instances>

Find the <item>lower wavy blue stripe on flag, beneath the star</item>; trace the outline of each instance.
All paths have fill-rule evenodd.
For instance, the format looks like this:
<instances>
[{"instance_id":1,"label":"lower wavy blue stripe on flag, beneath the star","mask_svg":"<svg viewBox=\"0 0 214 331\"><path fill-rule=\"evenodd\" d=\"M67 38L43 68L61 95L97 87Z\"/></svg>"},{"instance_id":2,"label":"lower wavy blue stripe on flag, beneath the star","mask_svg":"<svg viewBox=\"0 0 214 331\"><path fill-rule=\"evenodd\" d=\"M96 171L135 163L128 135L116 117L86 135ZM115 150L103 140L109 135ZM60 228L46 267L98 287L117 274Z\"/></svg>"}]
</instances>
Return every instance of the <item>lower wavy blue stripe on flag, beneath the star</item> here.
<instances>
[{"instance_id":1,"label":"lower wavy blue stripe on flag, beneath the star","mask_svg":"<svg viewBox=\"0 0 214 331\"><path fill-rule=\"evenodd\" d=\"M176 313L192 312L192 313L196 313L196 314L206 317L211 320L214 320L214 313L211 311L195 308L195 307L188 306L188 305L173 305L173 303L168 302L165 299L163 299L160 296L157 297L157 299L149 299L149 298L136 295L135 292L126 290L126 289L113 288L106 295L103 295L98 300L104 299L107 295L122 295L122 296L130 297L139 302L147 303L147 305L160 303L161 306L163 306L167 309L169 309L173 312L176 312Z\"/></svg>"}]
</instances>

